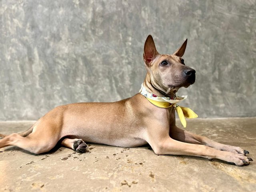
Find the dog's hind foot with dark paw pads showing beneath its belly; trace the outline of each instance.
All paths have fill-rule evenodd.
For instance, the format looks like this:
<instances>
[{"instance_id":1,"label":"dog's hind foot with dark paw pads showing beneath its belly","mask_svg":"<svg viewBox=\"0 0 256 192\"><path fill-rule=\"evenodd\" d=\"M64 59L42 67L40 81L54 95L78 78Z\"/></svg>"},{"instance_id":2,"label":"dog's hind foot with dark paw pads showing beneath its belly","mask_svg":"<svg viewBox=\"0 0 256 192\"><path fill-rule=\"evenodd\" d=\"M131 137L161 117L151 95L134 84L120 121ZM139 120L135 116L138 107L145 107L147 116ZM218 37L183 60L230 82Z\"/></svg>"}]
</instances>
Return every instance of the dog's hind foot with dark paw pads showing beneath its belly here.
<instances>
[{"instance_id":1,"label":"dog's hind foot with dark paw pads showing beneath its belly","mask_svg":"<svg viewBox=\"0 0 256 192\"><path fill-rule=\"evenodd\" d=\"M75 150L78 153L85 153L88 146L82 139L65 138L61 142L62 146Z\"/></svg>"}]
</instances>

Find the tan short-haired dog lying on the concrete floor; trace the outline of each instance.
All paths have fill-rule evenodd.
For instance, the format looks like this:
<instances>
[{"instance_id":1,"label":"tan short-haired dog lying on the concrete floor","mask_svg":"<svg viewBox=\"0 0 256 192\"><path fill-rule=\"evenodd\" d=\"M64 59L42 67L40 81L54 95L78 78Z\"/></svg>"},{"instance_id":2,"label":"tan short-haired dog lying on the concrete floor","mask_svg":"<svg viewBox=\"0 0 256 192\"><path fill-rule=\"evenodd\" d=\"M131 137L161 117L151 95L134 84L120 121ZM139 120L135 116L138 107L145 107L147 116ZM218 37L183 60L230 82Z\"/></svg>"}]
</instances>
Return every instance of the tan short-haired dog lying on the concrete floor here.
<instances>
[{"instance_id":1,"label":"tan short-haired dog lying on the concrete floor","mask_svg":"<svg viewBox=\"0 0 256 192\"><path fill-rule=\"evenodd\" d=\"M58 106L23 133L1 134L0 148L14 145L40 154L50 151L60 142L62 146L83 153L87 148L85 142L119 147L149 144L157 155L200 156L218 158L237 166L248 165L252 160L246 157L248 151L178 128L175 110L179 106L176 102L162 107L158 104L169 101L154 100L177 101L178 89L194 84L196 71L186 66L182 59L186 45L187 40L174 54L159 54L149 35L144 44L147 74L142 84L143 94L111 103ZM184 97L178 100L182 99Z\"/></svg>"}]
</instances>

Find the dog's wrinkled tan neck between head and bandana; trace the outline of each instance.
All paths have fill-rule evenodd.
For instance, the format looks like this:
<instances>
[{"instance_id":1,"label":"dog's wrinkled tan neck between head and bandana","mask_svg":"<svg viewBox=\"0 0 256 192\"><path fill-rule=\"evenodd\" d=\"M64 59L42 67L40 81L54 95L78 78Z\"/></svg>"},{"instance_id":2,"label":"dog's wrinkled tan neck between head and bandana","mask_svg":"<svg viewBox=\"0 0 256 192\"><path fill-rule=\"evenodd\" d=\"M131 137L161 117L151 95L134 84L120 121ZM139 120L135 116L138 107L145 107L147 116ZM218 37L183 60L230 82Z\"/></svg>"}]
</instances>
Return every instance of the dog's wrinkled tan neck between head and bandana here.
<instances>
[{"instance_id":1,"label":"dog's wrinkled tan neck between head and bandana","mask_svg":"<svg viewBox=\"0 0 256 192\"><path fill-rule=\"evenodd\" d=\"M178 91L178 88L175 87L168 89L162 88L162 86L150 78L148 73L146 74L143 86L146 88L146 90L158 97L175 97L176 92Z\"/></svg>"}]
</instances>

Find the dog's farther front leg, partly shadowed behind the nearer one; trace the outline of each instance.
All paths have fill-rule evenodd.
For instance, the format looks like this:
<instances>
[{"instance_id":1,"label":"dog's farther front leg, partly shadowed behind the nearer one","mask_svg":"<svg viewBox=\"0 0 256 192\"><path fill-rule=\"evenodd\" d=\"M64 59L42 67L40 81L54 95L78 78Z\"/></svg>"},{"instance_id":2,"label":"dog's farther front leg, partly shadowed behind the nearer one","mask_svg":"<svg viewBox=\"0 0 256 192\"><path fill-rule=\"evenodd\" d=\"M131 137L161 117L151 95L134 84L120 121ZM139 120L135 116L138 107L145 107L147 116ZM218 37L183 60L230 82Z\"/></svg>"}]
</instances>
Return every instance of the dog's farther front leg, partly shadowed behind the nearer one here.
<instances>
[{"instance_id":1,"label":"dog's farther front leg, partly shadowed behind the nearer one","mask_svg":"<svg viewBox=\"0 0 256 192\"><path fill-rule=\"evenodd\" d=\"M186 143L192 143L192 144L202 144L206 145L218 150L222 151L229 151L229 152L237 152L245 155L246 153L249 153L246 150L243 150L240 147L230 146L218 143L214 140L211 140L205 136L196 135L193 133L190 133L188 131L182 130L176 126L172 127L170 129L170 136L178 141L186 142Z\"/></svg>"}]
</instances>

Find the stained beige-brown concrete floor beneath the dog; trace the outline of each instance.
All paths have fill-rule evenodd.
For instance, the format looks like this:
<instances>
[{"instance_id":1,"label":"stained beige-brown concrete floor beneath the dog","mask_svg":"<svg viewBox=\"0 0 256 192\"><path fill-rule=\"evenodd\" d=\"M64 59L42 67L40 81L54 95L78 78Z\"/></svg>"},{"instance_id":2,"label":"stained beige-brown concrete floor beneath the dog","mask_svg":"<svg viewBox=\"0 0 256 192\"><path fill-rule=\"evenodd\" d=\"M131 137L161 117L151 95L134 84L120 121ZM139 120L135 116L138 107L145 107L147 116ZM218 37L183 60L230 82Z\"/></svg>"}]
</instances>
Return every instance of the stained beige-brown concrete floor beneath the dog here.
<instances>
[{"instance_id":1,"label":"stained beige-brown concrete floor beneath the dog","mask_svg":"<svg viewBox=\"0 0 256 192\"><path fill-rule=\"evenodd\" d=\"M21 132L32 123L0 122L0 132ZM61 147L42 155L6 147L0 149L0 191L256 191L256 118L188 120L186 130L240 146L254 161L238 167L216 159L157 156L149 146L90 144L84 154Z\"/></svg>"}]
</instances>

